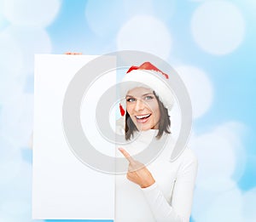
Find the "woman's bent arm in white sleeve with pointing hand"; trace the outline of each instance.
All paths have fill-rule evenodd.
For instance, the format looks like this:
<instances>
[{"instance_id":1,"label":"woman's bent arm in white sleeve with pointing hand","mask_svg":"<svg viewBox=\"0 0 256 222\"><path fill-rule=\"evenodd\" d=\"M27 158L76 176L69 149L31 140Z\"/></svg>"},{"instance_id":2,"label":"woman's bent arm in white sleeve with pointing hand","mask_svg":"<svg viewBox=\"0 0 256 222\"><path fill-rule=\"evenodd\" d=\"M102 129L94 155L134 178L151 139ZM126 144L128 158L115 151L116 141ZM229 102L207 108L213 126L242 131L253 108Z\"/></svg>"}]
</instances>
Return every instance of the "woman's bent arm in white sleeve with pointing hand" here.
<instances>
[{"instance_id":1,"label":"woman's bent arm in white sleeve with pointing hand","mask_svg":"<svg viewBox=\"0 0 256 222\"><path fill-rule=\"evenodd\" d=\"M183 151L181 157L172 164L172 170L177 171L177 177L172 191L172 202L169 204L148 168L134 160L124 149L119 151L129 162L127 179L141 186L156 221L189 222L197 173L197 159L193 152L189 149ZM165 177L165 172L161 172L160 176Z\"/></svg>"}]
</instances>

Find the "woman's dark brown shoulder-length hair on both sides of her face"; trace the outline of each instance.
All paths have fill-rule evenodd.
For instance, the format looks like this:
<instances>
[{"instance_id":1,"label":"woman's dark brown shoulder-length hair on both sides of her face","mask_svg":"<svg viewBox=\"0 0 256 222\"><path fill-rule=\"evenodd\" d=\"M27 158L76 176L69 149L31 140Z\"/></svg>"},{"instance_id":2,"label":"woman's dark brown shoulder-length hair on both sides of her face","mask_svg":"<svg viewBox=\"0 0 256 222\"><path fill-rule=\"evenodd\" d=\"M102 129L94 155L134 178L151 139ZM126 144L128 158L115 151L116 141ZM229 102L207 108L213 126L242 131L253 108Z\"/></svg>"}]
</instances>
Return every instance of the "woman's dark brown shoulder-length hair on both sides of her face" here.
<instances>
[{"instance_id":1,"label":"woman's dark brown shoulder-length hair on both sides of her face","mask_svg":"<svg viewBox=\"0 0 256 222\"><path fill-rule=\"evenodd\" d=\"M153 92L154 93L154 92ZM159 97L154 93L154 96L158 102L160 108L160 122L159 122L159 131L158 134L155 136L156 139L160 139L161 136L166 132L166 134L171 134L170 127L171 127L171 120L170 116L168 115L168 110L166 109L165 105L159 100ZM133 133L138 131L136 125L132 122L129 113L126 111L125 113L125 139L131 139Z\"/></svg>"}]
</instances>

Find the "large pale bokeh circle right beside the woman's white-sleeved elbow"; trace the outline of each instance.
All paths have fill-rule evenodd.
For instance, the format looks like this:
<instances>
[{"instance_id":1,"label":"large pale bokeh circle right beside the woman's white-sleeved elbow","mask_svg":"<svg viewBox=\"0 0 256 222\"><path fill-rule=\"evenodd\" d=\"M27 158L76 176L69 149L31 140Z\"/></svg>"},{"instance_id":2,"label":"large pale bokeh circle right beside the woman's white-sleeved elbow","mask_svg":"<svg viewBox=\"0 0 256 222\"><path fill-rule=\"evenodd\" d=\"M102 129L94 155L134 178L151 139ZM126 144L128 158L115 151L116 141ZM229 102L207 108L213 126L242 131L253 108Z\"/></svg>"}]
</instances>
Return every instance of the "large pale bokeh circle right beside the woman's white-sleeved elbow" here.
<instances>
[{"instance_id":1,"label":"large pale bokeh circle right beside the woman's white-sleeved elbow","mask_svg":"<svg viewBox=\"0 0 256 222\"><path fill-rule=\"evenodd\" d=\"M226 191L234 185L231 179L239 159L236 150L241 145L239 131L234 130L234 125L226 122L213 128L211 132L198 136L194 134L191 138L190 146L200 162L197 187L209 191ZM244 168L242 165L244 164L239 167Z\"/></svg>"}]
</instances>

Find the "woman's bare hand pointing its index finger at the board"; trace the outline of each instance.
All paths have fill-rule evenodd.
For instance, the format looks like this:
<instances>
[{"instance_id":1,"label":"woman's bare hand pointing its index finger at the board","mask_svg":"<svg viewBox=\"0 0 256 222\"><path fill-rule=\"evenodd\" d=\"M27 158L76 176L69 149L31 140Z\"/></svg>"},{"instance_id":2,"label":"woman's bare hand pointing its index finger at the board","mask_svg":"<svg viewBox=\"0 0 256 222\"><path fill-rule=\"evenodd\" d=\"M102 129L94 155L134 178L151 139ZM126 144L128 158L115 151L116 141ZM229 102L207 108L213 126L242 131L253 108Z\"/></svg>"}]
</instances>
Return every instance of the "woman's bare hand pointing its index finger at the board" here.
<instances>
[{"instance_id":1,"label":"woman's bare hand pointing its index finger at the board","mask_svg":"<svg viewBox=\"0 0 256 222\"><path fill-rule=\"evenodd\" d=\"M130 154L122 148L119 148L119 151L125 156L125 158L129 162L129 168L126 174L127 179L131 180L137 185L140 185L142 188L146 188L154 184L155 180L152 174L142 162L134 160L130 156Z\"/></svg>"}]
</instances>

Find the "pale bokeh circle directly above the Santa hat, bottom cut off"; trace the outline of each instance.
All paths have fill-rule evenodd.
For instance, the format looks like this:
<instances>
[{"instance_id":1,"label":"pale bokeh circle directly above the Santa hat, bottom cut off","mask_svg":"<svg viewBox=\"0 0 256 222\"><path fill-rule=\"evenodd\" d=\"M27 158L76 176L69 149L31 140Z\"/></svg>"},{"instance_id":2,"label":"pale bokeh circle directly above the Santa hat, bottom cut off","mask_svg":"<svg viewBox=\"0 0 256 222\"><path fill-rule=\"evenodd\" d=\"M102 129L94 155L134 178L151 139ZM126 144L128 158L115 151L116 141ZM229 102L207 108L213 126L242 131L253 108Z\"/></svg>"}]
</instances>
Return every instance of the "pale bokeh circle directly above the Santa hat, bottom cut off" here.
<instances>
[{"instance_id":1,"label":"pale bokeh circle directly above the Santa hat, bottom cut off","mask_svg":"<svg viewBox=\"0 0 256 222\"><path fill-rule=\"evenodd\" d=\"M160 20L151 16L135 16L119 30L118 50L138 50L166 59L171 52L172 37Z\"/></svg>"}]
</instances>

